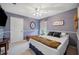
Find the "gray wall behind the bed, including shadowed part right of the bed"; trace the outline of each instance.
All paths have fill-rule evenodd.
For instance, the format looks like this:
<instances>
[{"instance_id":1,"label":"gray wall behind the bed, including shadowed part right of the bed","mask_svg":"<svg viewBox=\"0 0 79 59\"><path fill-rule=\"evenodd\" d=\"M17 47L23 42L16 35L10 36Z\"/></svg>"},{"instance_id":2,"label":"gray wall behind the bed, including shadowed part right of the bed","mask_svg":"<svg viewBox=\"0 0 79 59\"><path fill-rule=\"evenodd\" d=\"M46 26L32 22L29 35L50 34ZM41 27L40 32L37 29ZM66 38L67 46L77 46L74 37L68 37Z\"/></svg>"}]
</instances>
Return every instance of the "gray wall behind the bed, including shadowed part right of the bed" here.
<instances>
[{"instance_id":1,"label":"gray wall behind the bed, including shadowed part right of the bed","mask_svg":"<svg viewBox=\"0 0 79 59\"><path fill-rule=\"evenodd\" d=\"M70 44L77 45L77 35L74 33L74 15L77 13L77 9L69 10L54 16L44 18L47 21L47 30L61 31L69 33ZM64 20L63 26L54 26L52 23L56 20ZM43 24L42 24L43 25Z\"/></svg>"}]
</instances>

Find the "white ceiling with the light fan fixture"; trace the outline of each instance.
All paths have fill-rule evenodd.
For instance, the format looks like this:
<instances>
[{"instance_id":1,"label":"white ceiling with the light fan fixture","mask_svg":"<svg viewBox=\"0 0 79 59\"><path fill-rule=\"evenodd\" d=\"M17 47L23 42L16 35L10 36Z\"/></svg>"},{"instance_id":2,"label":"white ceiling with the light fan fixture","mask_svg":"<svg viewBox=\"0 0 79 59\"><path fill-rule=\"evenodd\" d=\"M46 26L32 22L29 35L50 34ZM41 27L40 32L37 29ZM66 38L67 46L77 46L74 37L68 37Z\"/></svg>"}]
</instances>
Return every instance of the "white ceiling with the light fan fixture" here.
<instances>
[{"instance_id":1,"label":"white ceiling with the light fan fixture","mask_svg":"<svg viewBox=\"0 0 79 59\"><path fill-rule=\"evenodd\" d=\"M76 3L2 3L2 8L11 13L41 19L48 16L56 15L77 7ZM39 16L36 14L35 9L39 8Z\"/></svg>"}]
</instances>

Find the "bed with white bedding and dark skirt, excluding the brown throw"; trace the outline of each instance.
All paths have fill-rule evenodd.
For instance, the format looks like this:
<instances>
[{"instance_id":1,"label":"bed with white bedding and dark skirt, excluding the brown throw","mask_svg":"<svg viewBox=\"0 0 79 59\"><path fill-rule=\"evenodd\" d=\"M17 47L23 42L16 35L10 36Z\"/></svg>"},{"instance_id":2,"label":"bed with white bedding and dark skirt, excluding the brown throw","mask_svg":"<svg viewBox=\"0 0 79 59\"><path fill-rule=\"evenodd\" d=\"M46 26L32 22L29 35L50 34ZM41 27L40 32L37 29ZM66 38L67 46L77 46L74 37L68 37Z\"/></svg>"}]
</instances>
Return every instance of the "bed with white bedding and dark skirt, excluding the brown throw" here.
<instances>
[{"instance_id":1,"label":"bed with white bedding and dark skirt, excluding the brown throw","mask_svg":"<svg viewBox=\"0 0 79 59\"><path fill-rule=\"evenodd\" d=\"M40 35L40 37L48 38L49 40L55 40L57 42L60 42L61 44L57 47L57 49L55 49L55 48L48 47L45 44L42 44L41 42L38 42L30 38L30 48L36 54L38 55L63 55L65 53L68 42L69 42L68 40L69 35L64 35L60 38L46 36L46 35Z\"/></svg>"}]
</instances>

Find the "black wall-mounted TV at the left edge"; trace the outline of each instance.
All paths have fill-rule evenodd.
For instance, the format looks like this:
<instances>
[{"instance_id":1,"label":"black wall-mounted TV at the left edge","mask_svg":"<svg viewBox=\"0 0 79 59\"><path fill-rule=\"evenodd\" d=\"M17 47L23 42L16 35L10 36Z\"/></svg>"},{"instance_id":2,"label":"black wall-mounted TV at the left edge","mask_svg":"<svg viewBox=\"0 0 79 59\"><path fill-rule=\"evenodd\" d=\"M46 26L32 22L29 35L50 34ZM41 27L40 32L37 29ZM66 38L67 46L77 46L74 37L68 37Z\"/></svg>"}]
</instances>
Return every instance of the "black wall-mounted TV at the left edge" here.
<instances>
[{"instance_id":1,"label":"black wall-mounted TV at the left edge","mask_svg":"<svg viewBox=\"0 0 79 59\"><path fill-rule=\"evenodd\" d=\"M5 26L7 22L7 15L5 11L0 6L0 26Z\"/></svg>"}]
</instances>

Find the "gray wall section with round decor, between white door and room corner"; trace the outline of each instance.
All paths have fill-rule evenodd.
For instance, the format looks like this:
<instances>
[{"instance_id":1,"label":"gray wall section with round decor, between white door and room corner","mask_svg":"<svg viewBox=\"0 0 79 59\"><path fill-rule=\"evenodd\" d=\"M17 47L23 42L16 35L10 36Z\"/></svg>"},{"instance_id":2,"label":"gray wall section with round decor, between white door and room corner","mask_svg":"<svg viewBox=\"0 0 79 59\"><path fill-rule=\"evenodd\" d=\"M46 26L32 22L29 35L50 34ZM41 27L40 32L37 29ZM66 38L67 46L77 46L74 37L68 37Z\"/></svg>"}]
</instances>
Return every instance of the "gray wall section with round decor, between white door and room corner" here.
<instances>
[{"instance_id":1,"label":"gray wall section with round decor, between white door and room corner","mask_svg":"<svg viewBox=\"0 0 79 59\"><path fill-rule=\"evenodd\" d=\"M35 29L30 28L30 23L35 22ZM27 35L38 35L39 34L39 20L26 18L24 19L24 36Z\"/></svg>"}]
</instances>

